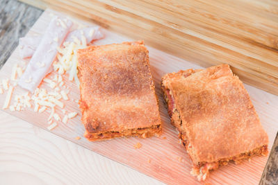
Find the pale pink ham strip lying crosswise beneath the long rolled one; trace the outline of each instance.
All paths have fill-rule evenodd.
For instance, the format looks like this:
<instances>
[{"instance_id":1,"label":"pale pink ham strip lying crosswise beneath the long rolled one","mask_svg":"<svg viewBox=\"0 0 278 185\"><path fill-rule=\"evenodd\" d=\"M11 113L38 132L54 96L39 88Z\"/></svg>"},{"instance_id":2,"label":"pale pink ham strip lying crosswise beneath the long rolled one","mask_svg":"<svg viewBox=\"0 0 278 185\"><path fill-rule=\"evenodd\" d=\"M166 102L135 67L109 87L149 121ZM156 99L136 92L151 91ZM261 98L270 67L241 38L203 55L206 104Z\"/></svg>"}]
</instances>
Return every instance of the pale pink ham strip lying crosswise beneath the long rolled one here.
<instances>
[{"instance_id":1,"label":"pale pink ham strip lying crosswise beneath the long rolled one","mask_svg":"<svg viewBox=\"0 0 278 185\"><path fill-rule=\"evenodd\" d=\"M81 40L82 35L85 37L87 44L96 39L102 39L104 34L101 32L99 26L83 28L80 30L74 30L65 39L65 42L73 42L74 37ZM22 37L19 39L19 56L21 58L31 58L35 50L38 48L42 37Z\"/></svg>"}]
</instances>

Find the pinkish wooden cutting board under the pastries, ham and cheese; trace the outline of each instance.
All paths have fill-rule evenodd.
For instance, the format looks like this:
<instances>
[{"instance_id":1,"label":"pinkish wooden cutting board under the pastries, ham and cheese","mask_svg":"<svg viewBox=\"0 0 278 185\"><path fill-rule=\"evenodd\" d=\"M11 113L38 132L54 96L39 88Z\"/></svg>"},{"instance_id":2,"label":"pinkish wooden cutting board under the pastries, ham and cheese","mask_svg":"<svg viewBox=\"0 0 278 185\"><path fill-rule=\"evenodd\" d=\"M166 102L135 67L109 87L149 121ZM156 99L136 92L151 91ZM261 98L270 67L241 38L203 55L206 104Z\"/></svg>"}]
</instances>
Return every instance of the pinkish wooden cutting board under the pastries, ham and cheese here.
<instances>
[{"instance_id":1,"label":"pinkish wooden cutting board under the pastries, ham and cheese","mask_svg":"<svg viewBox=\"0 0 278 185\"><path fill-rule=\"evenodd\" d=\"M47 28L47 24L51 20L51 15L53 14L58 14L58 12L54 12L54 10L49 9L46 10L40 19L38 19L38 21L34 24L33 28L31 28L28 35L42 35L45 28ZM74 20L81 24L92 25L89 22L78 19ZM128 37L123 37L107 30L104 30L104 33L106 35L105 39L101 39L95 42L95 44L111 44L131 41ZM64 81L67 87L70 87L70 100L64 101L64 103L67 111L79 112L79 116L72 119L67 124L59 122L58 127L54 128L54 130L51 130L50 132L88 148L89 150L109 157L110 159L126 164L131 168L159 179L167 184L199 184L196 178L190 175L190 159L186 154L186 150L178 142L177 131L172 125L170 125L170 118L167 115L167 109L163 105L160 82L161 77L165 73L178 71L179 69L199 69L201 67L196 64L191 64L185 60L181 60L173 55L153 49L148 46L148 43L146 44L149 49L149 59L152 76L154 77L156 85L156 94L160 100L159 108L163 121L162 136L152 137L149 139L113 139L111 141L101 141L95 143L87 141L83 137L84 127L80 121L81 114L79 112L79 107L75 102L75 100L79 100L79 89L74 83L67 80ZM0 79L10 78L13 64L21 64L22 61L23 60L19 58L17 48L1 69ZM47 88L44 84L42 84L42 87ZM250 85L245 85L245 87L250 93L250 97L254 103L256 111L259 114L259 117L261 118L263 127L266 132L268 132L270 138L269 148L271 148L278 128L276 123L278 118L278 96L256 89ZM24 92L23 89L18 86L15 87L14 95L22 94L22 92ZM0 95L1 107L5 98L6 92L5 94ZM5 109L4 111L44 129L48 126L47 118L49 116L49 112L39 114L33 112L32 109L26 109L26 111L21 112L10 112L8 109ZM62 115L60 109L57 109L56 112ZM81 139L74 139L76 136L81 136ZM138 142L142 144L142 147L135 149L134 145ZM244 184L258 184L266 161L267 157L254 157L252 158L252 161L244 161L243 164L240 165L229 164L228 166L222 166L219 170L212 172L206 182L212 184L242 184L243 182Z\"/></svg>"}]
</instances>

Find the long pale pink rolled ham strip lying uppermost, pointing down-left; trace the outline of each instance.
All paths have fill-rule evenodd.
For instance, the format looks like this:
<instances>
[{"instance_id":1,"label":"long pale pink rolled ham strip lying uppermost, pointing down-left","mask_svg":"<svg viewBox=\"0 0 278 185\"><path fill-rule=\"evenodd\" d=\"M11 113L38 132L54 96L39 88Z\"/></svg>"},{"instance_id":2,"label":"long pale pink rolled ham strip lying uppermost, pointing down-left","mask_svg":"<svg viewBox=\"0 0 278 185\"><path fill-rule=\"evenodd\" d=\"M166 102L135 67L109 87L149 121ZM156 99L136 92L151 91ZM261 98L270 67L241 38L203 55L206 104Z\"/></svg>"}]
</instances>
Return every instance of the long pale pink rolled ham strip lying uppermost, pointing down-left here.
<instances>
[{"instance_id":1,"label":"long pale pink rolled ham strip lying uppermost, pointing down-left","mask_svg":"<svg viewBox=\"0 0 278 185\"><path fill-rule=\"evenodd\" d=\"M72 27L72 21L54 17L47 27L38 48L35 50L18 85L28 91L35 91L42 78L47 75L60 46Z\"/></svg>"}]
</instances>

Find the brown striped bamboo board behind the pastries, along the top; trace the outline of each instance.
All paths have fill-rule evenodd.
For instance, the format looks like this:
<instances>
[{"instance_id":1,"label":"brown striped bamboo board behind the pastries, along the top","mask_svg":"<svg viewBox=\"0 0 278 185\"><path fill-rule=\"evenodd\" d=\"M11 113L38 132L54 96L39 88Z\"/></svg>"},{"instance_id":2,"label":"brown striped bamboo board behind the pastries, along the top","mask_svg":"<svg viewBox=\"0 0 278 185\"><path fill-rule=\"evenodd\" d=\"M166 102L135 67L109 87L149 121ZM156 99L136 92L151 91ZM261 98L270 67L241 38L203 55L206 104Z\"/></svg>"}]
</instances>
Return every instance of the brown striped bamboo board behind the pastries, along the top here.
<instances>
[{"instance_id":1,"label":"brown striped bamboo board behind the pastries, along the top","mask_svg":"<svg viewBox=\"0 0 278 185\"><path fill-rule=\"evenodd\" d=\"M144 38L150 46L202 67L229 63L244 82L278 94L275 1L41 2L93 19L133 39Z\"/></svg>"}]
</instances>

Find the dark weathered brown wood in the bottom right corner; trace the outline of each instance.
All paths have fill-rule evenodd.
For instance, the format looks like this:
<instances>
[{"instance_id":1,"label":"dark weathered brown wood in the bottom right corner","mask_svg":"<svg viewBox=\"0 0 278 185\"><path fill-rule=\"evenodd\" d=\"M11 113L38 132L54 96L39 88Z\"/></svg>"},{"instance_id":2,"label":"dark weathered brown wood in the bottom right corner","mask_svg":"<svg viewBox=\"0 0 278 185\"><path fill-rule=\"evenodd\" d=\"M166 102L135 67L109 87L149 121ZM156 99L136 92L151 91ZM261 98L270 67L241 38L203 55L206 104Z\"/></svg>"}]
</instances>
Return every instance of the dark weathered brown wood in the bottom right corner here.
<instances>
[{"instance_id":1,"label":"dark weathered brown wood in the bottom right corner","mask_svg":"<svg viewBox=\"0 0 278 185\"><path fill-rule=\"evenodd\" d=\"M261 175L260 185L278 184L278 132L273 143L270 157Z\"/></svg>"}]
</instances>

